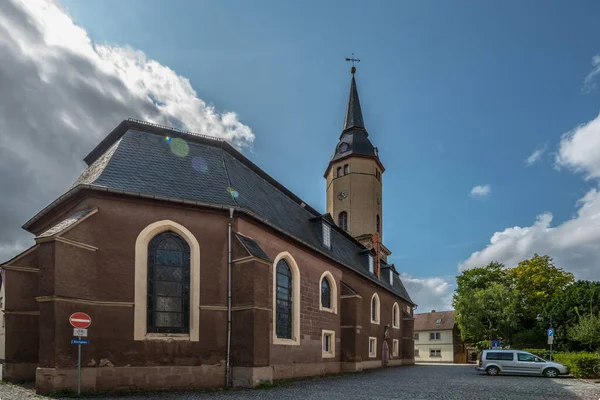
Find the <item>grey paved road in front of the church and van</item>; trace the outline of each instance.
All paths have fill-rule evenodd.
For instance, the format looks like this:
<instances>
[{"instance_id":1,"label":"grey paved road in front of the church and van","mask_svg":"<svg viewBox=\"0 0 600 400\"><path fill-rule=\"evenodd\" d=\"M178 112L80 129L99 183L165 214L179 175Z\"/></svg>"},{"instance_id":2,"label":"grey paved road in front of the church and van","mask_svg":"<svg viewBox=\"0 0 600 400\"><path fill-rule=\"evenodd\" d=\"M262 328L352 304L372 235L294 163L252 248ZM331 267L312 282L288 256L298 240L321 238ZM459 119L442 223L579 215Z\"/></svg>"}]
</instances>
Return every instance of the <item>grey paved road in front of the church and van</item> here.
<instances>
[{"instance_id":1,"label":"grey paved road in front of the church and van","mask_svg":"<svg viewBox=\"0 0 600 400\"><path fill-rule=\"evenodd\" d=\"M7 394L0 398L24 400ZM6 396L6 397L5 397ZM95 397L116 400L117 397ZM600 383L572 378L548 379L531 376L490 377L472 366L416 365L367 371L361 374L322 377L284 383L270 389L234 390L217 393L157 393L127 397L127 400L236 400L236 399L406 399L406 400L598 400Z\"/></svg>"}]
</instances>

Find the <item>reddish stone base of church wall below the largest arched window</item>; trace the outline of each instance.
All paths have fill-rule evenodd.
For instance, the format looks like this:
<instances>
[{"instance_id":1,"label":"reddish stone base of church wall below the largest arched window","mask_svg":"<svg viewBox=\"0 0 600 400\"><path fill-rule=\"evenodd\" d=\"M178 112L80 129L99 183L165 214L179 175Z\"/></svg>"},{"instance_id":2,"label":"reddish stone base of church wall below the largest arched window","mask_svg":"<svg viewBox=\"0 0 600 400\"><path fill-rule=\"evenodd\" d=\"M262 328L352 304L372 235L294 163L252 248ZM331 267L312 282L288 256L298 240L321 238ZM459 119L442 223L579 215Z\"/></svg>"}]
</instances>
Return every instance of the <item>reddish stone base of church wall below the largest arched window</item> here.
<instances>
[{"instance_id":1,"label":"reddish stone base of church wall below the largest arched window","mask_svg":"<svg viewBox=\"0 0 600 400\"><path fill-rule=\"evenodd\" d=\"M36 391L53 394L77 390L77 369L38 368ZM225 384L223 365L196 367L98 367L81 368L81 391L123 391L140 389L200 389Z\"/></svg>"}]
</instances>

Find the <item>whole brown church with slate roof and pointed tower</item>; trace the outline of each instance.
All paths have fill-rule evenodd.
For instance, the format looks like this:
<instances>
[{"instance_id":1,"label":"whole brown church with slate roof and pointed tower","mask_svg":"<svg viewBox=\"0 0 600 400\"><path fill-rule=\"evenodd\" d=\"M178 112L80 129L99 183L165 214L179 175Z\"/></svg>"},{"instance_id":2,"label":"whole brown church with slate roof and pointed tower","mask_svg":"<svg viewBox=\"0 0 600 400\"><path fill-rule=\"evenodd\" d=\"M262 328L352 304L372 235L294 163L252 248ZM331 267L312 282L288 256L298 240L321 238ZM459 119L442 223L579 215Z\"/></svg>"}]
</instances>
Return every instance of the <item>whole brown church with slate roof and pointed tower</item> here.
<instances>
[{"instance_id":1,"label":"whole brown church with slate roof and pointed tower","mask_svg":"<svg viewBox=\"0 0 600 400\"><path fill-rule=\"evenodd\" d=\"M2 264L4 380L82 391L254 386L414 363L383 174L352 67L322 214L226 141L121 122ZM325 164L325 162L324 162Z\"/></svg>"}]
</instances>

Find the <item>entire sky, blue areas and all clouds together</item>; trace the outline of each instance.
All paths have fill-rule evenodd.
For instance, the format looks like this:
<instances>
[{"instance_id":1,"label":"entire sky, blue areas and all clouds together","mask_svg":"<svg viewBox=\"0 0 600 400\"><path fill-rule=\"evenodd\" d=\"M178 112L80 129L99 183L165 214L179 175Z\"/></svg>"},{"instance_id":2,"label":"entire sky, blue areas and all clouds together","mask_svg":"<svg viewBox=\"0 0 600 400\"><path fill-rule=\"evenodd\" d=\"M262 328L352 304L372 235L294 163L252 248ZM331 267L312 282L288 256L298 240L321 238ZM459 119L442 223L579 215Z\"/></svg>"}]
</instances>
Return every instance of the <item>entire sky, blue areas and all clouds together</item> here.
<instances>
[{"instance_id":1,"label":"entire sky, blue areas and all clouds together","mask_svg":"<svg viewBox=\"0 0 600 400\"><path fill-rule=\"evenodd\" d=\"M418 312L548 254L600 279L600 3L0 2L0 262L140 118L224 138L325 212L352 53L383 240Z\"/></svg>"}]
</instances>

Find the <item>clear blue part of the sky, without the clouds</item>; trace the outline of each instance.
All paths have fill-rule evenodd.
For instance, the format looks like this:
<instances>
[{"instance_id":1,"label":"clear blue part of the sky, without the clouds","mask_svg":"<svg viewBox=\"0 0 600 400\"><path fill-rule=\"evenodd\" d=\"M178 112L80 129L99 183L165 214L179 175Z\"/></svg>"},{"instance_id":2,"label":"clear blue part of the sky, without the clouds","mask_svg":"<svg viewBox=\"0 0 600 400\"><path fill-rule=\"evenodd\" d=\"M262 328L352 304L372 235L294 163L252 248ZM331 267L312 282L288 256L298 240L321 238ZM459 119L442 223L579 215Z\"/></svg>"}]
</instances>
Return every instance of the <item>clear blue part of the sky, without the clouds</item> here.
<instances>
[{"instance_id":1,"label":"clear blue part of the sky, without the clouds","mask_svg":"<svg viewBox=\"0 0 600 400\"><path fill-rule=\"evenodd\" d=\"M578 200L597 188L597 177L585 179L587 161L563 159L558 169L555 157L562 135L600 111L594 76L584 88L600 52L600 3L60 4L94 43L140 50L189 79L198 98L235 112L255 135L244 153L323 212L322 176L350 83L344 57L354 52L365 124L386 167L384 242L397 268L422 286L416 291L437 293L431 304L419 295L425 308L448 306L452 277L470 257L469 266L490 257L511 264L549 252L578 271L571 263L581 249L553 254L546 239L539 249L515 243L525 249L472 254L496 232L533 231L543 213L552 227L576 218ZM536 149L545 151L528 166ZM478 185L489 194L471 196ZM580 276L599 278L590 269L597 255L586 256Z\"/></svg>"}]
</instances>

